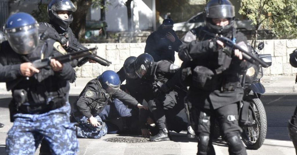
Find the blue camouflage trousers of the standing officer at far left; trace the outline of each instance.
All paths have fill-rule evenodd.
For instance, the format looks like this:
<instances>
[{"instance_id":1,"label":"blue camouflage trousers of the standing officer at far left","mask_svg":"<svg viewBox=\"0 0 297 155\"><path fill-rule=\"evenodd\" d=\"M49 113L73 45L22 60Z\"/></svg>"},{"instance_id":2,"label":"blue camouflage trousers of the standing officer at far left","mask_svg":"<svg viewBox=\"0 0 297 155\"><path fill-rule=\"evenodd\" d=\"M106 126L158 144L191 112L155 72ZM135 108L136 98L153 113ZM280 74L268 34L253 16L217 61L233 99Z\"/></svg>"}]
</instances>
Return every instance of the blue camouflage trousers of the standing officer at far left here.
<instances>
[{"instance_id":1,"label":"blue camouflage trousers of the standing officer at far left","mask_svg":"<svg viewBox=\"0 0 297 155\"><path fill-rule=\"evenodd\" d=\"M42 138L48 141L52 154L76 154L78 140L75 127L69 121L69 111L67 102L44 114L15 114L13 126L7 133L7 154L34 154Z\"/></svg>"}]
</instances>

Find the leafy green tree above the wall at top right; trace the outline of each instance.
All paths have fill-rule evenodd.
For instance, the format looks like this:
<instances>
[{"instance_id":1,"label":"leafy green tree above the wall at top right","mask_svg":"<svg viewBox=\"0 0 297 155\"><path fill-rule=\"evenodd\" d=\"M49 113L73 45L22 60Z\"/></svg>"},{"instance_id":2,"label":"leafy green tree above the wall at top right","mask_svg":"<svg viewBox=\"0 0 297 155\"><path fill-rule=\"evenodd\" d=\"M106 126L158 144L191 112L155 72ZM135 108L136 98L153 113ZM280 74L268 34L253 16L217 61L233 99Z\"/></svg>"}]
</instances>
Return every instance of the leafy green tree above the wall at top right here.
<instances>
[{"instance_id":1,"label":"leafy green tree above the wall at top right","mask_svg":"<svg viewBox=\"0 0 297 155\"><path fill-rule=\"evenodd\" d=\"M254 47L260 26L271 30L279 38L297 38L296 0L241 0L239 13L255 24Z\"/></svg>"}]
</instances>

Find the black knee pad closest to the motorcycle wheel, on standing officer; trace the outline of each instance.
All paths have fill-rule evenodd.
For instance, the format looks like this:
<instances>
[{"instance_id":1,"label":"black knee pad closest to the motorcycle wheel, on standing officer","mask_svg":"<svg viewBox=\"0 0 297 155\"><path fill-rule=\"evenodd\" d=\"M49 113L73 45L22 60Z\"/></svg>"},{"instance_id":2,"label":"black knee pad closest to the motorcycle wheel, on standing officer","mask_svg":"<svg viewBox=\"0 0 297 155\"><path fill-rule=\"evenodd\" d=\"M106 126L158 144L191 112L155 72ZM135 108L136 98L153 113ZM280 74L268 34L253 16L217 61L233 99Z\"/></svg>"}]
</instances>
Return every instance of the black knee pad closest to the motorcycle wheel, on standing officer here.
<instances>
[{"instance_id":1,"label":"black knee pad closest to the motorcycle wheel, on standing officer","mask_svg":"<svg viewBox=\"0 0 297 155\"><path fill-rule=\"evenodd\" d=\"M243 146L243 144L242 144L240 138L238 137L238 135L230 136L229 138L226 139L226 141L229 144L229 150L233 154L243 153L242 151L244 151L245 147Z\"/></svg>"}]
</instances>

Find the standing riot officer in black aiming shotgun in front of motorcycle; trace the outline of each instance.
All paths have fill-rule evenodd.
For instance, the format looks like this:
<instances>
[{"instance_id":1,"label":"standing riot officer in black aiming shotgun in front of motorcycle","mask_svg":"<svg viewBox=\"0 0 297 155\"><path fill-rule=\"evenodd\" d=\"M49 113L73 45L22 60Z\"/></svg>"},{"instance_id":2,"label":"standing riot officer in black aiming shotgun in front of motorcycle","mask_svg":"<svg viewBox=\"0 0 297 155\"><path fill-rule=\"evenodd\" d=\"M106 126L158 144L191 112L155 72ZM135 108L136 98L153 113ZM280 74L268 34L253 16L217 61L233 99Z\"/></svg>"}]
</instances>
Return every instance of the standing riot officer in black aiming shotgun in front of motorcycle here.
<instances>
[{"instance_id":1,"label":"standing riot officer in black aiming shotgun in front of motorcycle","mask_svg":"<svg viewBox=\"0 0 297 155\"><path fill-rule=\"evenodd\" d=\"M210 33L236 43L247 38L234 28L234 6L229 0L210 0L204 17L206 26L192 30L197 40L183 44L178 55L183 60L182 81L189 86L192 127L198 136L197 154L215 154L211 137L218 119L229 154L246 154L239 134L238 106L243 98L240 74L246 69L242 53L226 47Z\"/></svg>"}]
</instances>

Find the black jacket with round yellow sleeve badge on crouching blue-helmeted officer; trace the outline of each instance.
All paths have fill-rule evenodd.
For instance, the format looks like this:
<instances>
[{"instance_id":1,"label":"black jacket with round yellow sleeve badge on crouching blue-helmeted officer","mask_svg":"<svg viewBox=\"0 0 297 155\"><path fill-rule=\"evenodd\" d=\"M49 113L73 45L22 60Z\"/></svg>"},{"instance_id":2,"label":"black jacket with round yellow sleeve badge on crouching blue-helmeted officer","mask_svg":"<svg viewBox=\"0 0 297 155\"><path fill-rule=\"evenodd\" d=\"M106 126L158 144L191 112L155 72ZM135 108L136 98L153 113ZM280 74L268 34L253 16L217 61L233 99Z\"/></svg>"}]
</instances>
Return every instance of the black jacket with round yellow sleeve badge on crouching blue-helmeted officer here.
<instances>
[{"instance_id":1,"label":"black jacket with round yellow sleeve badge on crouching blue-helmeted officer","mask_svg":"<svg viewBox=\"0 0 297 155\"><path fill-rule=\"evenodd\" d=\"M118 90L112 95L113 98L121 100L125 104L137 106L138 102L132 96L128 95L122 90ZM86 87L78 96L78 99L74 103L74 109L76 109L75 116L97 116L103 108L107 105L111 95L108 95L102 88L101 83L97 79L92 79L88 82Z\"/></svg>"}]
</instances>

